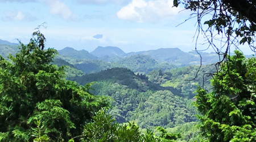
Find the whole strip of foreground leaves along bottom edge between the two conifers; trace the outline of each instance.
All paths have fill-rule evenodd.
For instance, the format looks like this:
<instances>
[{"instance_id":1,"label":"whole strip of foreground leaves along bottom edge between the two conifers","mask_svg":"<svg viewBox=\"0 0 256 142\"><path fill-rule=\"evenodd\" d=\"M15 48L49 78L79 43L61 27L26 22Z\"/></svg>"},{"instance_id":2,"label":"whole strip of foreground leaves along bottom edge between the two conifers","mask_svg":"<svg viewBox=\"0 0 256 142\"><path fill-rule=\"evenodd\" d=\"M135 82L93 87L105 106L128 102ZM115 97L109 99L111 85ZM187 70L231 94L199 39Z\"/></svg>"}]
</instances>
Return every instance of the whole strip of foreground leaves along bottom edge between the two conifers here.
<instances>
[{"instance_id":1,"label":"whole strip of foreground leaves along bottom edge between the two conifers","mask_svg":"<svg viewBox=\"0 0 256 142\"><path fill-rule=\"evenodd\" d=\"M85 125L82 141L174 141L180 134L170 134L164 128L158 127L159 136L152 131L141 132L137 124L128 122L118 124L112 115L106 114L104 109L98 111L93 117L93 122Z\"/></svg>"}]
</instances>

